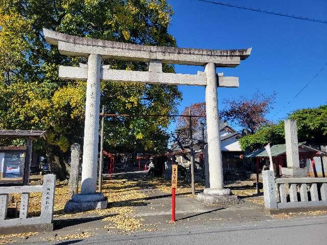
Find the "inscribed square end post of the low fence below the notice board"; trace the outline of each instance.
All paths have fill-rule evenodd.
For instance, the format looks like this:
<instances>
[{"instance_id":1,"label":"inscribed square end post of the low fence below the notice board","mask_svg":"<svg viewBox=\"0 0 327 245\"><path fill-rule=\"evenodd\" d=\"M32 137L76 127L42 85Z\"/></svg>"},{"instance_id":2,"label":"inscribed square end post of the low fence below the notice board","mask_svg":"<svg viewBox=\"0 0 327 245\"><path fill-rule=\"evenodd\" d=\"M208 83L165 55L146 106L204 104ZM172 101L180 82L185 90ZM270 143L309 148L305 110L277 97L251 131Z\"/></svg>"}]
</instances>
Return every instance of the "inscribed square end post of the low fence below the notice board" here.
<instances>
[{"instance_id":1,"label":"inscribed square end post of the low fence below the notice board","mask_svg":"<svg viewBox=\"0 0 327 245\"><path fill-rule=\"evenodd\" d=\"M41 222L51 223L55 201L56 175L45 175L42 187Z\"/></svg>"}]
</instances>

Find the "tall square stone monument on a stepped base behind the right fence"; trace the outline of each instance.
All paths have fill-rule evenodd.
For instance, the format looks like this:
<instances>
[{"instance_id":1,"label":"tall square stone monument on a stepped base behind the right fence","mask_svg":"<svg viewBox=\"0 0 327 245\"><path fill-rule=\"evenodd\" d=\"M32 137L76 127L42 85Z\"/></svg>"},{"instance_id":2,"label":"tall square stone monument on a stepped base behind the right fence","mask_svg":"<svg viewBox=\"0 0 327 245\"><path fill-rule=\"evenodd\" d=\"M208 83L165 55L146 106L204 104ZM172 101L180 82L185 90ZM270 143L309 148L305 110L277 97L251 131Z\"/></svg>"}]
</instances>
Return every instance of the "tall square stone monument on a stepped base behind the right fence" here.
<instances>
[{"instance_id":1,"label":"tall square stone monument on a stepped base behind the right fence","mask_svg":"<svg viewBox=\"0 0 327 245\"><path fill-rule=\"evenodd\" d=\"M306 169L300 167L296 120L285 120L285 142L287 167L282 167L282 176L305 177Z\"/></svg>"}]
</instances>

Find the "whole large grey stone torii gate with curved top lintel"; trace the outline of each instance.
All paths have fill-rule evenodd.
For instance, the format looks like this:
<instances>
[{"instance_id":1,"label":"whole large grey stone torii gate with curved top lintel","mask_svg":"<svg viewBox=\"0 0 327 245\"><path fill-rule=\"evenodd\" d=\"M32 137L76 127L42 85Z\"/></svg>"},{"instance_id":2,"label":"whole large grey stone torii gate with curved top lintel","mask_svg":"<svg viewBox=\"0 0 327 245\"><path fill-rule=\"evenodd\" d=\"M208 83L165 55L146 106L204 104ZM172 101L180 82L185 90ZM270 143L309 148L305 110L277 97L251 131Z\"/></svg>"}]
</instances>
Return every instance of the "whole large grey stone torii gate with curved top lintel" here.
<instances>
[{"instance_id":1,"label":"whole large grey stone torii gate with curved top lintel","mask_svg":"<svg viewBox=\"0 0 327 245\"><path fill-rule=\"evenodd\" d=\"M217 87L239 87L236 77L216 74L216 67L236 67L251 53L243 50L203 50L145 46L66 35L43 29L46 41L57 45L60 54L88 57L87 65L59 67L63 79L87 80L81 194L70 202L85 209L103 208L106 200L97 193L97 166L100 116L100 81L137 82L205 86L206 122L210 188L198 198L209 203L235 202L230 189L224 189ZM114 70L101 66L102 59L149 62L149 71ZM162 63L204 66L197 75L162 72ZM232 198L233 197L233 198ZM80 208L78 208L80 209Z\"/></svg>"}]
</instances>

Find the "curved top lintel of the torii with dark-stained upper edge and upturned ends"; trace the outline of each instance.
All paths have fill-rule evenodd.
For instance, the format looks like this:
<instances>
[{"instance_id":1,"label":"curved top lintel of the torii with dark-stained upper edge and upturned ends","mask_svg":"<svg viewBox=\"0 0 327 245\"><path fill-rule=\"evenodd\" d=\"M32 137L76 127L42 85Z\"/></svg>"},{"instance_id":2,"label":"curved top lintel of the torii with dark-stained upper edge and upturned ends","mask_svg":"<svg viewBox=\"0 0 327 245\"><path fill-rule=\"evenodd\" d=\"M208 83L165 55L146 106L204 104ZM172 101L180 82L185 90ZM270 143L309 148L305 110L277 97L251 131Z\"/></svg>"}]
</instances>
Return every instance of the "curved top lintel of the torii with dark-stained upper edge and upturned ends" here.
<instances>
[{"instance_id":1,"label":"curved top lintel of the torii with dark-stained upper edge and upturned ends","mask_svg":"<svg viewBox=\"0 0 327 245\"><path fill-rule=\"evenodd\" d=\"M165 46L146 46L123 42L77 37L43 29L46 41L57 45L60 54L67 56L88 56L99 54L105 59L122 59L162 63L205 65L215 63L218 67L235 67L251 53L251 48L241 50L205 50Z\"/></svg>"}]
</instances>

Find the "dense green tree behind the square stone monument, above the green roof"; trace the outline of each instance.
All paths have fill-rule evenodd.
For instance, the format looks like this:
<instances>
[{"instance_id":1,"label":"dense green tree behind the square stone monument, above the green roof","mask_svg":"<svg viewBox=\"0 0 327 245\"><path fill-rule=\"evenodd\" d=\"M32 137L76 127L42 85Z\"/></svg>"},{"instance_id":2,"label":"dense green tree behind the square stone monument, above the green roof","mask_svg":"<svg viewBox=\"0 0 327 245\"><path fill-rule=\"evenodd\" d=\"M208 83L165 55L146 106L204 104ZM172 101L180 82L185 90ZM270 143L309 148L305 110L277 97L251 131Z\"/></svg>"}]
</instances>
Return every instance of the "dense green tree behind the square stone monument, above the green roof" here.
<instances>
[{"instance_id":1,"label":"dense green tree behind the square stone monument, above the green roof","mask_svg":"<svg viewBox=\"0 0 327 245\"><path fill-rule=\"evenodd\" d=\"M288 119L296 120L299 142L316 146L327 144L327 105L296 110L289 114ZM256 150L268 143L285 143L284 121L264 126L240 139L243 150Z\"/></svg>"}]
</instances>

